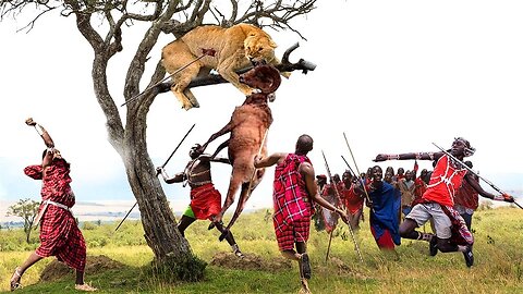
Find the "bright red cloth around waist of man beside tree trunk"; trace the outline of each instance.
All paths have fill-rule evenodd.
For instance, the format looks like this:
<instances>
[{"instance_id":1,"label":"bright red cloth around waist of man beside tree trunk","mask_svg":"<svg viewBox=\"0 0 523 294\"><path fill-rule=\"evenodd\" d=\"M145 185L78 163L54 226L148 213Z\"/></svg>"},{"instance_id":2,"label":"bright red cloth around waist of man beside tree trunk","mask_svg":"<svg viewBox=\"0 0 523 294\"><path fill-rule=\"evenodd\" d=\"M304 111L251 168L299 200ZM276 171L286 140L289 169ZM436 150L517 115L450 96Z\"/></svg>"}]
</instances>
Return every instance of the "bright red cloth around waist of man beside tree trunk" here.
<instances>
[{"instance_id":1,"label":"bright red cloth around waist of man beside tree trunk","mask_svg":"<svg viewBox=\"0 0 523 294\"><path fill-rule=\"evenodd\" d=\"M211 220L221 211L221 194L209 183L191 189L191 209L198 220Z\"/></svg>"}]
</instances>

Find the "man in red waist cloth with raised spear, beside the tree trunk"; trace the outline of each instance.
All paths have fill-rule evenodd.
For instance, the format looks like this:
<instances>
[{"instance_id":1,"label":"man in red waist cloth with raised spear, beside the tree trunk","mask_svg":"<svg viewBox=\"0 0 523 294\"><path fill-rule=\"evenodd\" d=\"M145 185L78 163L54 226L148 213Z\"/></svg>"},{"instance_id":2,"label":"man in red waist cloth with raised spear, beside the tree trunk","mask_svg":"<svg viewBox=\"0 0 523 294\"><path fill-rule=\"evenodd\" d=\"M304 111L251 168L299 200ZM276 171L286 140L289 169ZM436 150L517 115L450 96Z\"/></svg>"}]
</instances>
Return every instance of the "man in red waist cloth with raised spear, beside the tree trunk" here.
<instances>
[{"instance_id":1,"label":"man in red waist cloth with raised spear, beside the tree trunk","mask_svg":"<svg viewBox=\"0 0 523 294\"><path fill-rule=\"evenodd\" d=\"M214 226L223 233L224 228L222 222L214 222L215 216L221 211L221 194L215 188L212 179L210 176L210 162L229 163L227 158L212 158L210 155L203 154L202 146L199 144L194 145L188 151L191 161L188 161L183 172L177 173L174 176L169 177L163 168L157 168L156 171L161 173L163 181L168 184L184 183L185 186L188 183L191 187L191 204L185 212L183 212L182 219L178 224L178 230L185 236L185 229L196 220L210 220ZM240 250L232 232L226 237L229 245L231 245L232 252L235 256L242 258L244 255Z\"/></svg>"}]
</instances>

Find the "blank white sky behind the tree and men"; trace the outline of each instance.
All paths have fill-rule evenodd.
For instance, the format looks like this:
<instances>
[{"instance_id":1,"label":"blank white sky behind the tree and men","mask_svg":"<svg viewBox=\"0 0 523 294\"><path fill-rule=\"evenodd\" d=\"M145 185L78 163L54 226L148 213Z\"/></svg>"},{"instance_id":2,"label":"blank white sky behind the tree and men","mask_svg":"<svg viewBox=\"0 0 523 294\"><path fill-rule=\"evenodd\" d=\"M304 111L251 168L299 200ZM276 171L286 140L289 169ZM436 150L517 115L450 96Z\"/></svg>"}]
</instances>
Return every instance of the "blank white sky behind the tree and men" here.
<instances>
[{"instance_id":1,"label":"blank white sky behind the tree and men","mask_svg":"<svg viewBox=\"0 0 523 294\"><path fill-rule=\"evenodd\" d=\"M278 56L300 41L291 61L303 58L318 65L307 75L294 72L278 89L271 105L269 152L292 151L297 136L307 133L315 139L311 159L317 173L325 173L320 150L331 171L342 173L345 166L340 156L351 158L343 133L362 171L374 164L370 160L379 152L436 151L433 142L450 147L453 137L463 136L477 149L471 160L482 175L500 181L501 188L523 189L519 107L523 2L333 0L317 5L306 20L293 23L307 41L289 32L268 32L279 44ZM24 25L0 24L0 154L9 162L0 169L0 200L20 198L7 195L9 183L2 180L7 174L16 174L21 184L38 186L21 172L38 163L44 147L24 124L27 117L49 130L73 163L75 189L104 182L125 186L123 164L106 139L105 117L93 93L93 52L73 17L42 17L31 33L15 33ZM118 106L123 102L129 58L135 51L133 39L143 34L131 29L124 30L124 51L110 62L110 88ZM149 66L156 65L161 47L170 40L170 36L161 38ZM156 98L148 115L148 150L157 166L196 123L167 166L171 174L183 169L190 146L221 128L244 99L231 85L198 88L195 95L199 109L182 110L168 93ZM121 110L123 114L125 108ZM413 162L380 163L389 164L410 169ZM215 182L224 194L230 168L216 167ZM268 169L252 206L270 206L272 173ZM507 182L506 173L516 175ZM186 205L188 188L181 193L175 199ZM84 201L110 198L102 192L76 195ZM129 194L126 199L132 197Z\"/></svg>"}]
</instances>

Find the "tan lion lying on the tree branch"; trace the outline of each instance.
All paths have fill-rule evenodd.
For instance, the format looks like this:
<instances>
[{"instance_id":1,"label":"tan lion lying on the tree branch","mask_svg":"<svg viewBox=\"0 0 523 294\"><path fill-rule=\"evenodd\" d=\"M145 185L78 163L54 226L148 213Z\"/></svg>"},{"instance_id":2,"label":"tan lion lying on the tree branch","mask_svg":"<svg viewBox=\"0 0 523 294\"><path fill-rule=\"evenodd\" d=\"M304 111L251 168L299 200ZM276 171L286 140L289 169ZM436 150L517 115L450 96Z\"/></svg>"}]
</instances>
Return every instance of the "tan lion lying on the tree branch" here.
<instances>
[{"instance_id":1,"label":"tan lion lying on the tree branch","mask_svg":"<svg viewBox=\"0 0 523 294\"><path fill-rule=\"evenodd\" d=\"M252 65L252 62L280 63L275 57L276 47L272 38L254 25L236 24L229 28L204 25L163 47L161 61L166 71L172 74L200 57L203 49L216 50L214 57L206 56L172 76L172 93L183 109L190 110L199 107L199 103L186 88L187 85L194 77L208 74L212 69L244 95L251 95L253 88L240 83L235 72ZM288 73L283 75L289 76Z\"/></svg>"}]
</instances>

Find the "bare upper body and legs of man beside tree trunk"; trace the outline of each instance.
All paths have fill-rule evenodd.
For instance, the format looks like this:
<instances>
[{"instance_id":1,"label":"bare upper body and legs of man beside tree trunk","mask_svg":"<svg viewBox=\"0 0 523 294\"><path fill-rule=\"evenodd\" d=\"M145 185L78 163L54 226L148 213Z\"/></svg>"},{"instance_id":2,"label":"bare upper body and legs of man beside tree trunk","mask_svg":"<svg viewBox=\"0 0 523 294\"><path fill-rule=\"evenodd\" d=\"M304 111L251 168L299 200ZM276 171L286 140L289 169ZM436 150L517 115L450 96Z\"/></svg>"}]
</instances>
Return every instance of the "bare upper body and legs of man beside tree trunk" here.
<instances>
[{"instance_id":1,"label":"bare upper body and legs of man beside tree trunk","mask_svg":"<svg viewBox=\"0 0 523 294\"><path fill-rule=\"evenodd\" d=\"M161 173L163 180L168 184L173 184L173 183L182 183L184 181L187 181L188 186L191 188L196 188L198 187L198 183L212 183L212 179L210 175L210 162L221 162L221 163L230 163L229 159L227 158L215 158L211 157L210 155L203 154L202 152L202 146L196 144L191 148L188 151L188 156L191 157L191 161L185 166L185 170L183 172L177 173L174 176L170 177L166 174L166 171L163 168L157 168L156 171L158 173ZM179 224L178 224L178 230L180 233L185 236L185 229L187 229L188 225L191 225L193 222L195 222L195 218L191 218L187 216L182 216ZM214 226L220 231L220 233L224 232L223 223L222 222L212 222ZM229 245L233 246L235 245L234 237L232 233L227 234L226 237L227 242Z\"/></svg>"}]
</instances>

